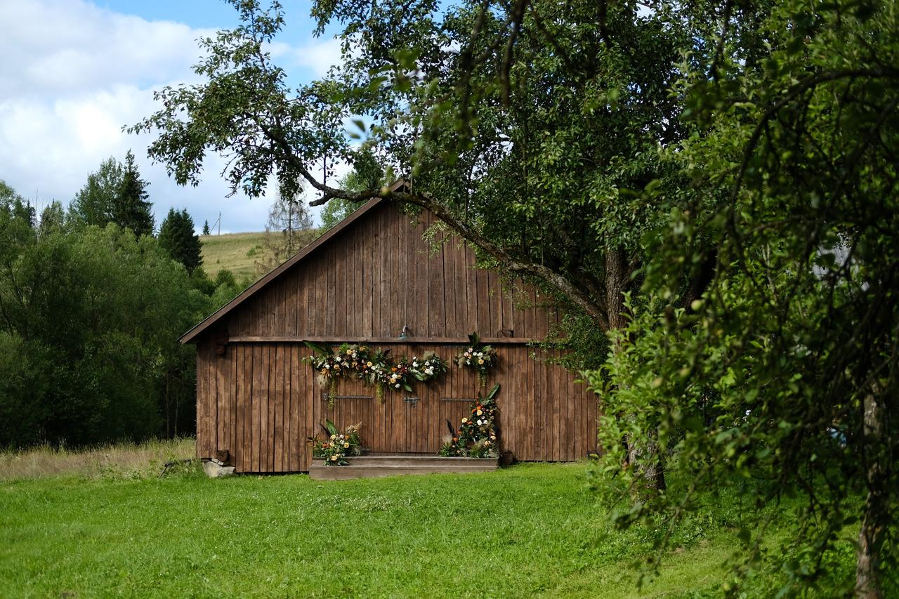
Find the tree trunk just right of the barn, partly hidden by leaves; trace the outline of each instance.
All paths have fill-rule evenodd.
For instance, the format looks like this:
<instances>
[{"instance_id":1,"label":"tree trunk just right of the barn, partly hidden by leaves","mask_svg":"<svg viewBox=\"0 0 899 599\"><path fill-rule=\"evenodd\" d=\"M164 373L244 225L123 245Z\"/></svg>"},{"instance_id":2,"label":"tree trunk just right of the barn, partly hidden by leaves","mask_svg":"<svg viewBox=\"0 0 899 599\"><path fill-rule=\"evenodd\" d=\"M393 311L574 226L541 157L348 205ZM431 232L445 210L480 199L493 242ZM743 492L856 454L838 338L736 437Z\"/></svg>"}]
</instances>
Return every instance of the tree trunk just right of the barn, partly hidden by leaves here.
<instances>
[{"instance_id":1,"label":"tree trunk just right of the barn, partly hidden by leaves","mask_svg":"<svg viewBox=\"0 0 899 599\"><path fill-rule=\"evenodd\" d=\"M628 326L624 305L624 292L628 289L628 282L630 272L624 251L621 248L610 249L606 253L606 307L609 310L610 330ZM632 464L642 478L638 492L663 490L665 474L655 431L645 431L642 439L624 441L628 445L628 464Z\"/></svg>"}]
</instances>

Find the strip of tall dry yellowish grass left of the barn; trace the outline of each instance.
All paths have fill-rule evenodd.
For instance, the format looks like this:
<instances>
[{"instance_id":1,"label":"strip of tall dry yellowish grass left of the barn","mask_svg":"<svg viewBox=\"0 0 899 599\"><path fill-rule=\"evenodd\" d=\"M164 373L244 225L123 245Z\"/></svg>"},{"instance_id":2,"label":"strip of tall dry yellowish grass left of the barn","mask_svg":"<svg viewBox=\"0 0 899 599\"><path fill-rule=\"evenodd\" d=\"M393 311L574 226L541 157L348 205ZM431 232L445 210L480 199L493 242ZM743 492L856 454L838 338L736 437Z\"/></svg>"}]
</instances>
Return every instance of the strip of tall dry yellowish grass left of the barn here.
<instances>
[{"instance_id":1,"label":"strip of tall dry yellowish grass left of the barn","mask_svg":"<svg viewBox=\"0 0 899 599\"><path fill-rule=\"evenodd\" d=\"M92 449L54 449L49 445L24 451L0 451L0 480L83 476L144 478L157 476L167 461L188 460L195 439L116 443Z\"/></svg>"}]
</instances>

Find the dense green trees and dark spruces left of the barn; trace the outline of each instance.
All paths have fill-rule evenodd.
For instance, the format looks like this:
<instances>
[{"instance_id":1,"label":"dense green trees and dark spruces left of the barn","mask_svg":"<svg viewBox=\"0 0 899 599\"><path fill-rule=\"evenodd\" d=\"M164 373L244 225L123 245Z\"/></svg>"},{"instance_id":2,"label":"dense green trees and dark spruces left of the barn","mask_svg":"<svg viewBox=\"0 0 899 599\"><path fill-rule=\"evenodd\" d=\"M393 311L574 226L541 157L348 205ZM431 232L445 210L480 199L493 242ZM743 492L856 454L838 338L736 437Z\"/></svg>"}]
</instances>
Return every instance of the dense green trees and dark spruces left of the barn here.
<instances>
[{"instance_id":1,"label":"dense green trees and dark spruces left of the barn","mask_svg":"<svg viewBox=\"0 0 899 599\"><path fill-rule=\"evenodd\" d=\"M193 434L194 349L177 340L240 289L203 271L186 210L156 231L130 152L66 208L37 214L0 182L0 446Z\"/></svg>"}]
</instances>

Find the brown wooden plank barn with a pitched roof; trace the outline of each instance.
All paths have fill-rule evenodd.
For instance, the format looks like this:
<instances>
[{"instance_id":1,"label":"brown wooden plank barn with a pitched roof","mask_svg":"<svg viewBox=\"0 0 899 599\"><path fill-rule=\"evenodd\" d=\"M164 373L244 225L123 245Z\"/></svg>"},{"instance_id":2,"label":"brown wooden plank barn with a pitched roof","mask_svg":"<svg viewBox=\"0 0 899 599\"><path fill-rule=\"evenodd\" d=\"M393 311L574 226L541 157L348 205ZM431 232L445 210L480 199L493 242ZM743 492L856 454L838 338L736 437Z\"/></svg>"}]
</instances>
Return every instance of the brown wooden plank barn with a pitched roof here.
<instances>
[{"instance_id":1,"label":"brown wooden plank barn with a pitched roof","mask_svg":"<svg viewBox=\"0 0 899 599\"><path fill-rule=\"evenodd\" d=\"M547 461L596 451L595 395L528 344L546 337L555 311L532 288L509 289L477 269L457 238L435 250L423 238L433 220L369 201L182 336L197 345L200 458L227 451L237 472L307 471L307 437L326 418L362 423L372 452L434 455L446 420L458 423L485 392L475 373L450 365L413 393L386 391L383 403L361 381L340 380L329 408L303 341L366 343L395 356L431 350L451 361L471 332L499 355L487 384L502 385L503 451Z\"/></svg>"}]
</instances>

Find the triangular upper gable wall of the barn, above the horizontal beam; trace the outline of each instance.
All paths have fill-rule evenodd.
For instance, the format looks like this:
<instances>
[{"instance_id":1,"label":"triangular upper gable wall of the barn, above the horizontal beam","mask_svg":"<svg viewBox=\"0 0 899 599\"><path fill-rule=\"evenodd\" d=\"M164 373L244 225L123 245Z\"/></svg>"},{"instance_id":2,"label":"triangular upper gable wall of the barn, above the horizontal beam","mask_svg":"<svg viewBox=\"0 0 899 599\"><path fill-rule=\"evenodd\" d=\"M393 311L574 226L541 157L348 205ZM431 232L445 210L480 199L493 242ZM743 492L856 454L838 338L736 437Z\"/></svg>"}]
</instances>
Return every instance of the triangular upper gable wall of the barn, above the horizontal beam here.
<instances>
[{"instance_id":1,"label":"triangular upper gable wall of the barn, above the horizontal beam","mask_svg":"<svg viewBox=\"0 0 899 599\"><path fill-rule=\"evenodd\" d=\"M423 341L503 329L547 335L557 315L538 291L504 289L456 237L432 252L422 237L432 215L410 219L387 202L370 210L235 308L228 334L364 339L396 337L408 325Z\"/></svg>"}]
</instances>

